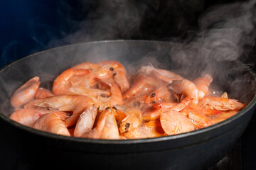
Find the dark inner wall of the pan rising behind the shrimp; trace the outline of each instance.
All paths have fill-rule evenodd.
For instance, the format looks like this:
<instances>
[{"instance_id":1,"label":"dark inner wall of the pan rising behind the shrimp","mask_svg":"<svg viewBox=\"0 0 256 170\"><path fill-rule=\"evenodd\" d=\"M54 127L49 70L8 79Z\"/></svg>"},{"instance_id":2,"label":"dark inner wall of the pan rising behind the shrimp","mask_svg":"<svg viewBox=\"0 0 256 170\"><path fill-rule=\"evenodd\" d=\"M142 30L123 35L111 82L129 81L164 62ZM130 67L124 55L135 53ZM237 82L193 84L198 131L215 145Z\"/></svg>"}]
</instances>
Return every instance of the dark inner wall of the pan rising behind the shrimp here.
<instances>
[{"instance_id":1,"label":"dark inner wall of the pan rising behind the shrimp","mask_svg":"<svg viewBox=\"0 0 256 170\"><path fill-rule=\"evenodd\" d=\"M80 62L116 60L124 64L127 72L135 72L142 65L176 70L178 74L193 79L203 72L213 75L213 86L221 87L230 98L248 104L255 97L255 74L249 67L237 61L212 62L207 65L174 60L174 44L169 42L114 40L87 42L56 47L24 57L0 72L0 114L7 117L14 112L9 98L25 81L38 76L41 86L51 89L53 80L61 72Z\"/></svg>"}]
</instances>

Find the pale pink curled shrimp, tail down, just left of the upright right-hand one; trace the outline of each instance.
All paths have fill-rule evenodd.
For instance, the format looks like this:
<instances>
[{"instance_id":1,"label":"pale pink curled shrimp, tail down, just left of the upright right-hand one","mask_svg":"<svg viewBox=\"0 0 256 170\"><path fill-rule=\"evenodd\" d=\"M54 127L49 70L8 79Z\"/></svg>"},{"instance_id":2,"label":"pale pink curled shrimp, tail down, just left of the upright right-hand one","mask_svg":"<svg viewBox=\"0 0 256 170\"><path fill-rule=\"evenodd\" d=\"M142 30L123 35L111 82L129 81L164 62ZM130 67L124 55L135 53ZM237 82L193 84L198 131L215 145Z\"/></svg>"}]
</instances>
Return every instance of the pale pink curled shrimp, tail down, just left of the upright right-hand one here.
<instances>
[{"instance_id":1,"label":"pale pink curled shrimp, tail down, just left of the upright right-hand one","mask_svg":"<svg viewBox=\"0 0 256 170\"><path fill-rule=\"evenodd\" d=\"M193 101L191 103L192 106L196 106L198 103L198 89L196 85L187 79L183 80L174 80L171 84L168 85L168 88L173 90L177 94L184 94L189 97L193 97Z\"/></svg>"}]
</instances>

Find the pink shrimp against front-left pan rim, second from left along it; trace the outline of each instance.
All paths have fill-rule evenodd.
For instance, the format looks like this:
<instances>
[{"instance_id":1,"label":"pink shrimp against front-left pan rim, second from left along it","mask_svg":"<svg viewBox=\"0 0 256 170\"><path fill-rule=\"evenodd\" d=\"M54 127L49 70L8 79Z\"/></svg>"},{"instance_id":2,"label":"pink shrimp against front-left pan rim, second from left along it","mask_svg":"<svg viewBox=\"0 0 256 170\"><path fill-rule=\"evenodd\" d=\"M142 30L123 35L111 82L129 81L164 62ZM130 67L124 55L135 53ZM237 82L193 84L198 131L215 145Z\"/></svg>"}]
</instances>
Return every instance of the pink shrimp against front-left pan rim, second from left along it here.
<instances>
[{"instance_id":1,"label":"pink shrimp against front-left pan rim, second from left along it","mask_svg":"<svg viewBox=\"0 0 256 170\"><path fill-rule=\"evenodd\" d=\"M55 133L57 135L70 136L70 132L68 131L68 128L65 127L65 124L62 120L65 117L66 114L57 112L42 115L33 124L33 128L37 130Z\"/></svg>"}]
</instances>

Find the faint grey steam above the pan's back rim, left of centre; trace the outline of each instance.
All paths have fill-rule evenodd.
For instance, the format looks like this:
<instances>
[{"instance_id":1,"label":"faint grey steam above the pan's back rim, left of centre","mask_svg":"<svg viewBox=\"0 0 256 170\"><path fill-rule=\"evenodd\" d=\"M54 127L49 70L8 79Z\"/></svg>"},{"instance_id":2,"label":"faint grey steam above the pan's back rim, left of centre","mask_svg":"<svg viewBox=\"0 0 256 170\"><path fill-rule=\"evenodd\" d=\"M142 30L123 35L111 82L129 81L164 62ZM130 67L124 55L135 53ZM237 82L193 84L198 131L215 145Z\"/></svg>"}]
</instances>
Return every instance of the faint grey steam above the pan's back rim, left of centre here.
<instances>
[{"instance_id":1,"label":"faint grey steam above the pan's back rim, left of centre","mask_svg":"<svg viewBox=\"0 0 256 170\"><path fill-rule=\"evenodd\" d=\"M86 13L87 16L84 16L84 20L79 23L74 23L77 27L74 33L61 40L49 42L49 47L58 46L63 42L73 44L119 38L131 39L134 33L139 33L139 26L148 8L145 3L129 0L81 1L80 3L82 8L90 4L91 10ZM85 10L88 11L88 9Z\"/></svg>"}]
</instances>

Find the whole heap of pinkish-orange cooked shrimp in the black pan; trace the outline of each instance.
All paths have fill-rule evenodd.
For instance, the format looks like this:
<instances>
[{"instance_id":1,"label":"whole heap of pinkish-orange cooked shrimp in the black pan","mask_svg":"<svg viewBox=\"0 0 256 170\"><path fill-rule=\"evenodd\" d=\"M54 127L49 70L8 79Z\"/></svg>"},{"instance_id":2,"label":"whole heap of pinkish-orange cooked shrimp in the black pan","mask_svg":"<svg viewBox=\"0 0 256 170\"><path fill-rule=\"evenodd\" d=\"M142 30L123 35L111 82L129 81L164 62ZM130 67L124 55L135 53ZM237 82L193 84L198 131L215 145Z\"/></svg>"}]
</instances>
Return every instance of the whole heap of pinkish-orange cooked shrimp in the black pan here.
<instances>
[{"instance_id":1,"label":"whole heap of pinkish-orange cooked shrimp in the black pan","mask_svg":"<svg viewBox=\"0 0 256 170\"><path fill-rule=\"evenodd\" d=\"M245 104L216 96L213 77L193 80L143 66L127 74L120 62L83 62L62 72L52 89L33 77L11 96L11 120L58 135L125 140L176 135L219 123Z\"/></svg>"}]
</instances>

